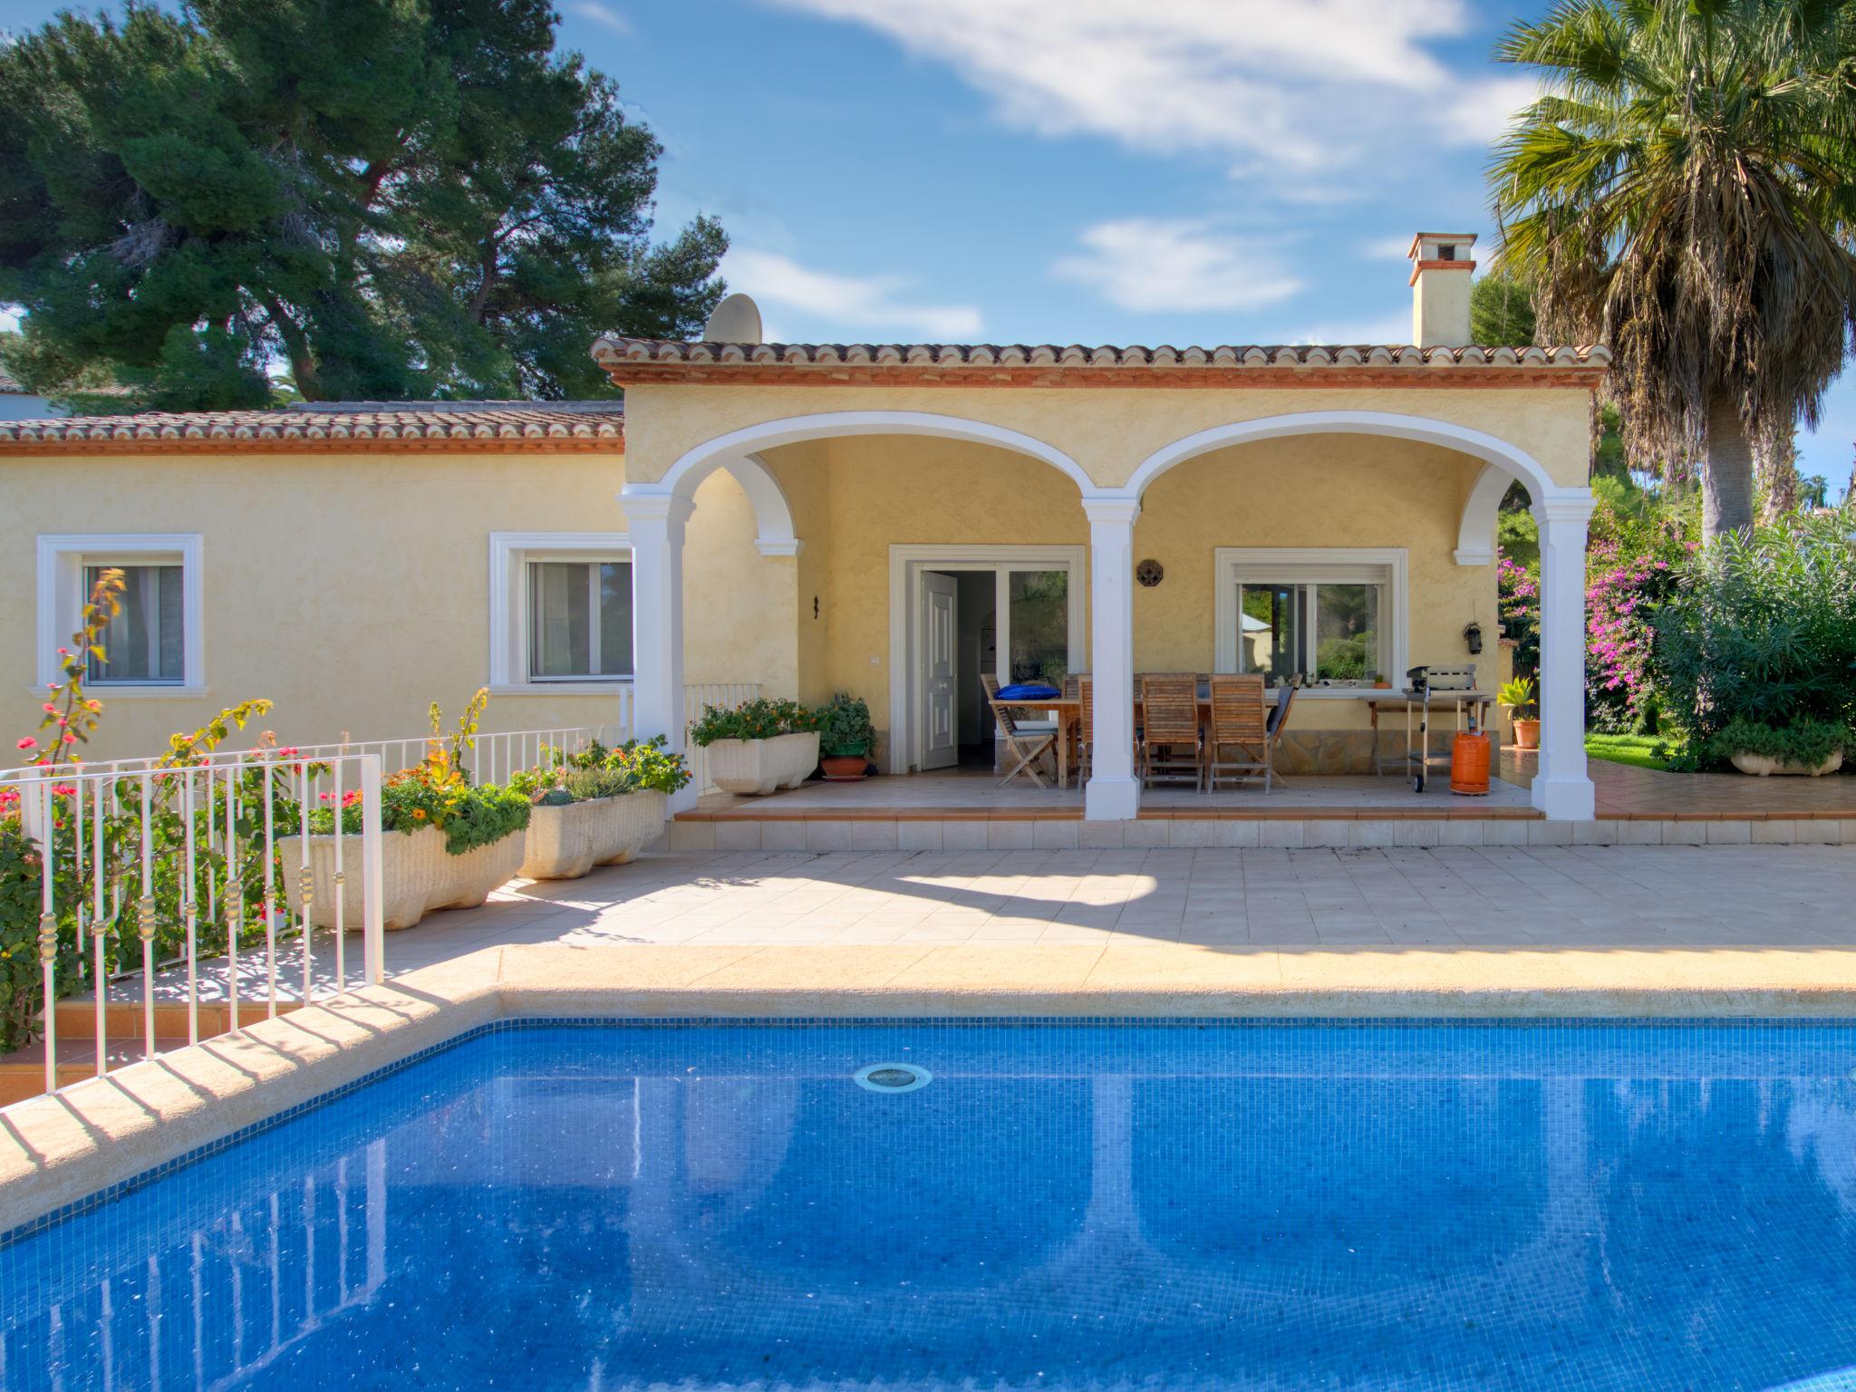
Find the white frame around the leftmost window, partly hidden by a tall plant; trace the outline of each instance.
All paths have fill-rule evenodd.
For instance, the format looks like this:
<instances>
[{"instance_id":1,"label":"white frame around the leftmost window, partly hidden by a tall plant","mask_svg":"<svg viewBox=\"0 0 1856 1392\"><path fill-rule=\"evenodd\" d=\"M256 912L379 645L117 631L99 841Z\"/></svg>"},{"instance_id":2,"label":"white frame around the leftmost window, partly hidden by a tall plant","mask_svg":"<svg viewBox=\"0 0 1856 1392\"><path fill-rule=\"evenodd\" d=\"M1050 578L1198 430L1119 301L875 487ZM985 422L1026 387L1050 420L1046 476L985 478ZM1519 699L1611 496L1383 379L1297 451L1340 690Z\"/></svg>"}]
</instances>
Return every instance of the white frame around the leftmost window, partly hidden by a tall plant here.
<instances>
[{"instance_id":1,"label":"white frame around the leftmost window, partly hidden by a tall plant","mask_svg":"<svg viewBox=\"0 0 1856 1392\"><path fill-rule=\"evenodd\" d=\"M58 533L41 535L37 551L37 685L63 685L59 648L84 624L85 566L180 566L180 611L186 633L180 646L180 681L98 681L98 692L119 696L206 694L206 588L204 546L199 533Z\"/></svg>"}]
</instances>

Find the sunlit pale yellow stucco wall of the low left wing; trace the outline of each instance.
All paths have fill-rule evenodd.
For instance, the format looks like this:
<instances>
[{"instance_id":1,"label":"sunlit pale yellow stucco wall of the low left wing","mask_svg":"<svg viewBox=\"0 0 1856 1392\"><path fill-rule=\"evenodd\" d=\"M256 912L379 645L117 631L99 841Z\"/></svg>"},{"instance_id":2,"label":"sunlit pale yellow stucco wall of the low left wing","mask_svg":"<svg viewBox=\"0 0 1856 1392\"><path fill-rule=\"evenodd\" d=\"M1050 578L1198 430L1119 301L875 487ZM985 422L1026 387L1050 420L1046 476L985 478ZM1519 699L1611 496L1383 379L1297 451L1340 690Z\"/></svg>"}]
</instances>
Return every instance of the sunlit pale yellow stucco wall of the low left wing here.
<instances>
[{"instance_id":1,"label":"sunlit pale yellow stucco wall of the low left wing","mask_svg":"<svg viewBox=\"0 0 1856 1392\"><path fill-rule=\"evenodd\" d=\"M488 679L488 535L625 531L618 453L0 455L0 731L37 726L35 538L199 533L204 696L108 700L93 757L165 748L265 696L288 742L418 735ZM687 679L796 689L794 561L754 549L733 479L689 525ZM486 729L603 724L611 696L497 694ZM11 763L11 759L7 759Z\"/></svg>"}]
</instances>

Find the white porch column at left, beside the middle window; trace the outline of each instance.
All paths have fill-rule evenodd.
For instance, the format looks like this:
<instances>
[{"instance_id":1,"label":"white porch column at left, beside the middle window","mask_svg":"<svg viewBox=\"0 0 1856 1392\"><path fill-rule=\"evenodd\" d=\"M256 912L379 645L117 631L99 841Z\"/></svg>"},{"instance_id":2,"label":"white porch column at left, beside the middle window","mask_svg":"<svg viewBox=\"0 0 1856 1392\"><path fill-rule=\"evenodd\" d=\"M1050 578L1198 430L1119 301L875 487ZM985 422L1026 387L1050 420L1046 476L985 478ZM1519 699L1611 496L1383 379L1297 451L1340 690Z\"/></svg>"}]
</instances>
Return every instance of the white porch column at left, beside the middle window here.
<instances>
[{"instance_id":1,"label":"white porch column at left, beside the middle window","mask_svg":"<svg viewBox=\"0 0 1856 1392\"><path fill-rule=\"evenodd\" d=\"M683 527L694 505L676 494L620 494L631 533L633 735L683 750ZM696 789L670 811L696 806Z\"/></svg>"}]
</instances>

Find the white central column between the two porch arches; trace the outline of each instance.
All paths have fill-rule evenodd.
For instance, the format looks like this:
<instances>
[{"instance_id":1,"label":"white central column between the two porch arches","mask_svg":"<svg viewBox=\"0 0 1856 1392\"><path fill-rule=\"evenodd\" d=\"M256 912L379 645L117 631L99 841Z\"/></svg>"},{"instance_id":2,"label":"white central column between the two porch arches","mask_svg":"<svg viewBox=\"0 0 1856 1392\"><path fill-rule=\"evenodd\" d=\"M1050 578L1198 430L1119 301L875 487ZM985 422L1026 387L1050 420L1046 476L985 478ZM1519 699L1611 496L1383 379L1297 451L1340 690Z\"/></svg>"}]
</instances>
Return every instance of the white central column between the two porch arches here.
<instances>
[{"instance_id":1,"label":"white central column between the two porch arches","mask_svg":"<svg viewBox=\"0 0 1856 1392\"><path fill-rule=\"evenodd\" d=\"M1134 778L1134 518L1132 497L1086 497L1089 518L1089 666L1095 729L1084 817L1127 822L1141 806Z\"/></svg>"}]
</instances>

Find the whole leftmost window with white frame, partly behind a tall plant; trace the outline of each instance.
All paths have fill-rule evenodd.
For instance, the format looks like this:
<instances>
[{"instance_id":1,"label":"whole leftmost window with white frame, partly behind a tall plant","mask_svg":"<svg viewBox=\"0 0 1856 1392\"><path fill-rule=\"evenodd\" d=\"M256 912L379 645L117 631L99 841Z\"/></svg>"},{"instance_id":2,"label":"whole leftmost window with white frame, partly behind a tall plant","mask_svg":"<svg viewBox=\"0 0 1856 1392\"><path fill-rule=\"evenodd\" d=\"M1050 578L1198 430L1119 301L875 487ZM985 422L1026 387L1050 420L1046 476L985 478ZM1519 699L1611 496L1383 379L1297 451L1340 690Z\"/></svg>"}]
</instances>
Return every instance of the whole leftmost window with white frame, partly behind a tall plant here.
<instances>
[{"instance_id":1,"label":"whole leftmost window with white frame, partly behind a tall plant","mask_svg":"<svg viewBox=\"0 0 1856 1392\"><path fill-rule=\"evenodd\" d=\"M122 572L119 612L104 627L85 681L117 696L197 696L204 690L197 535L39 538L39 685L63 681L59 648L84 624L84 605L106 570Z\"/></svg>"}]
</instances>

